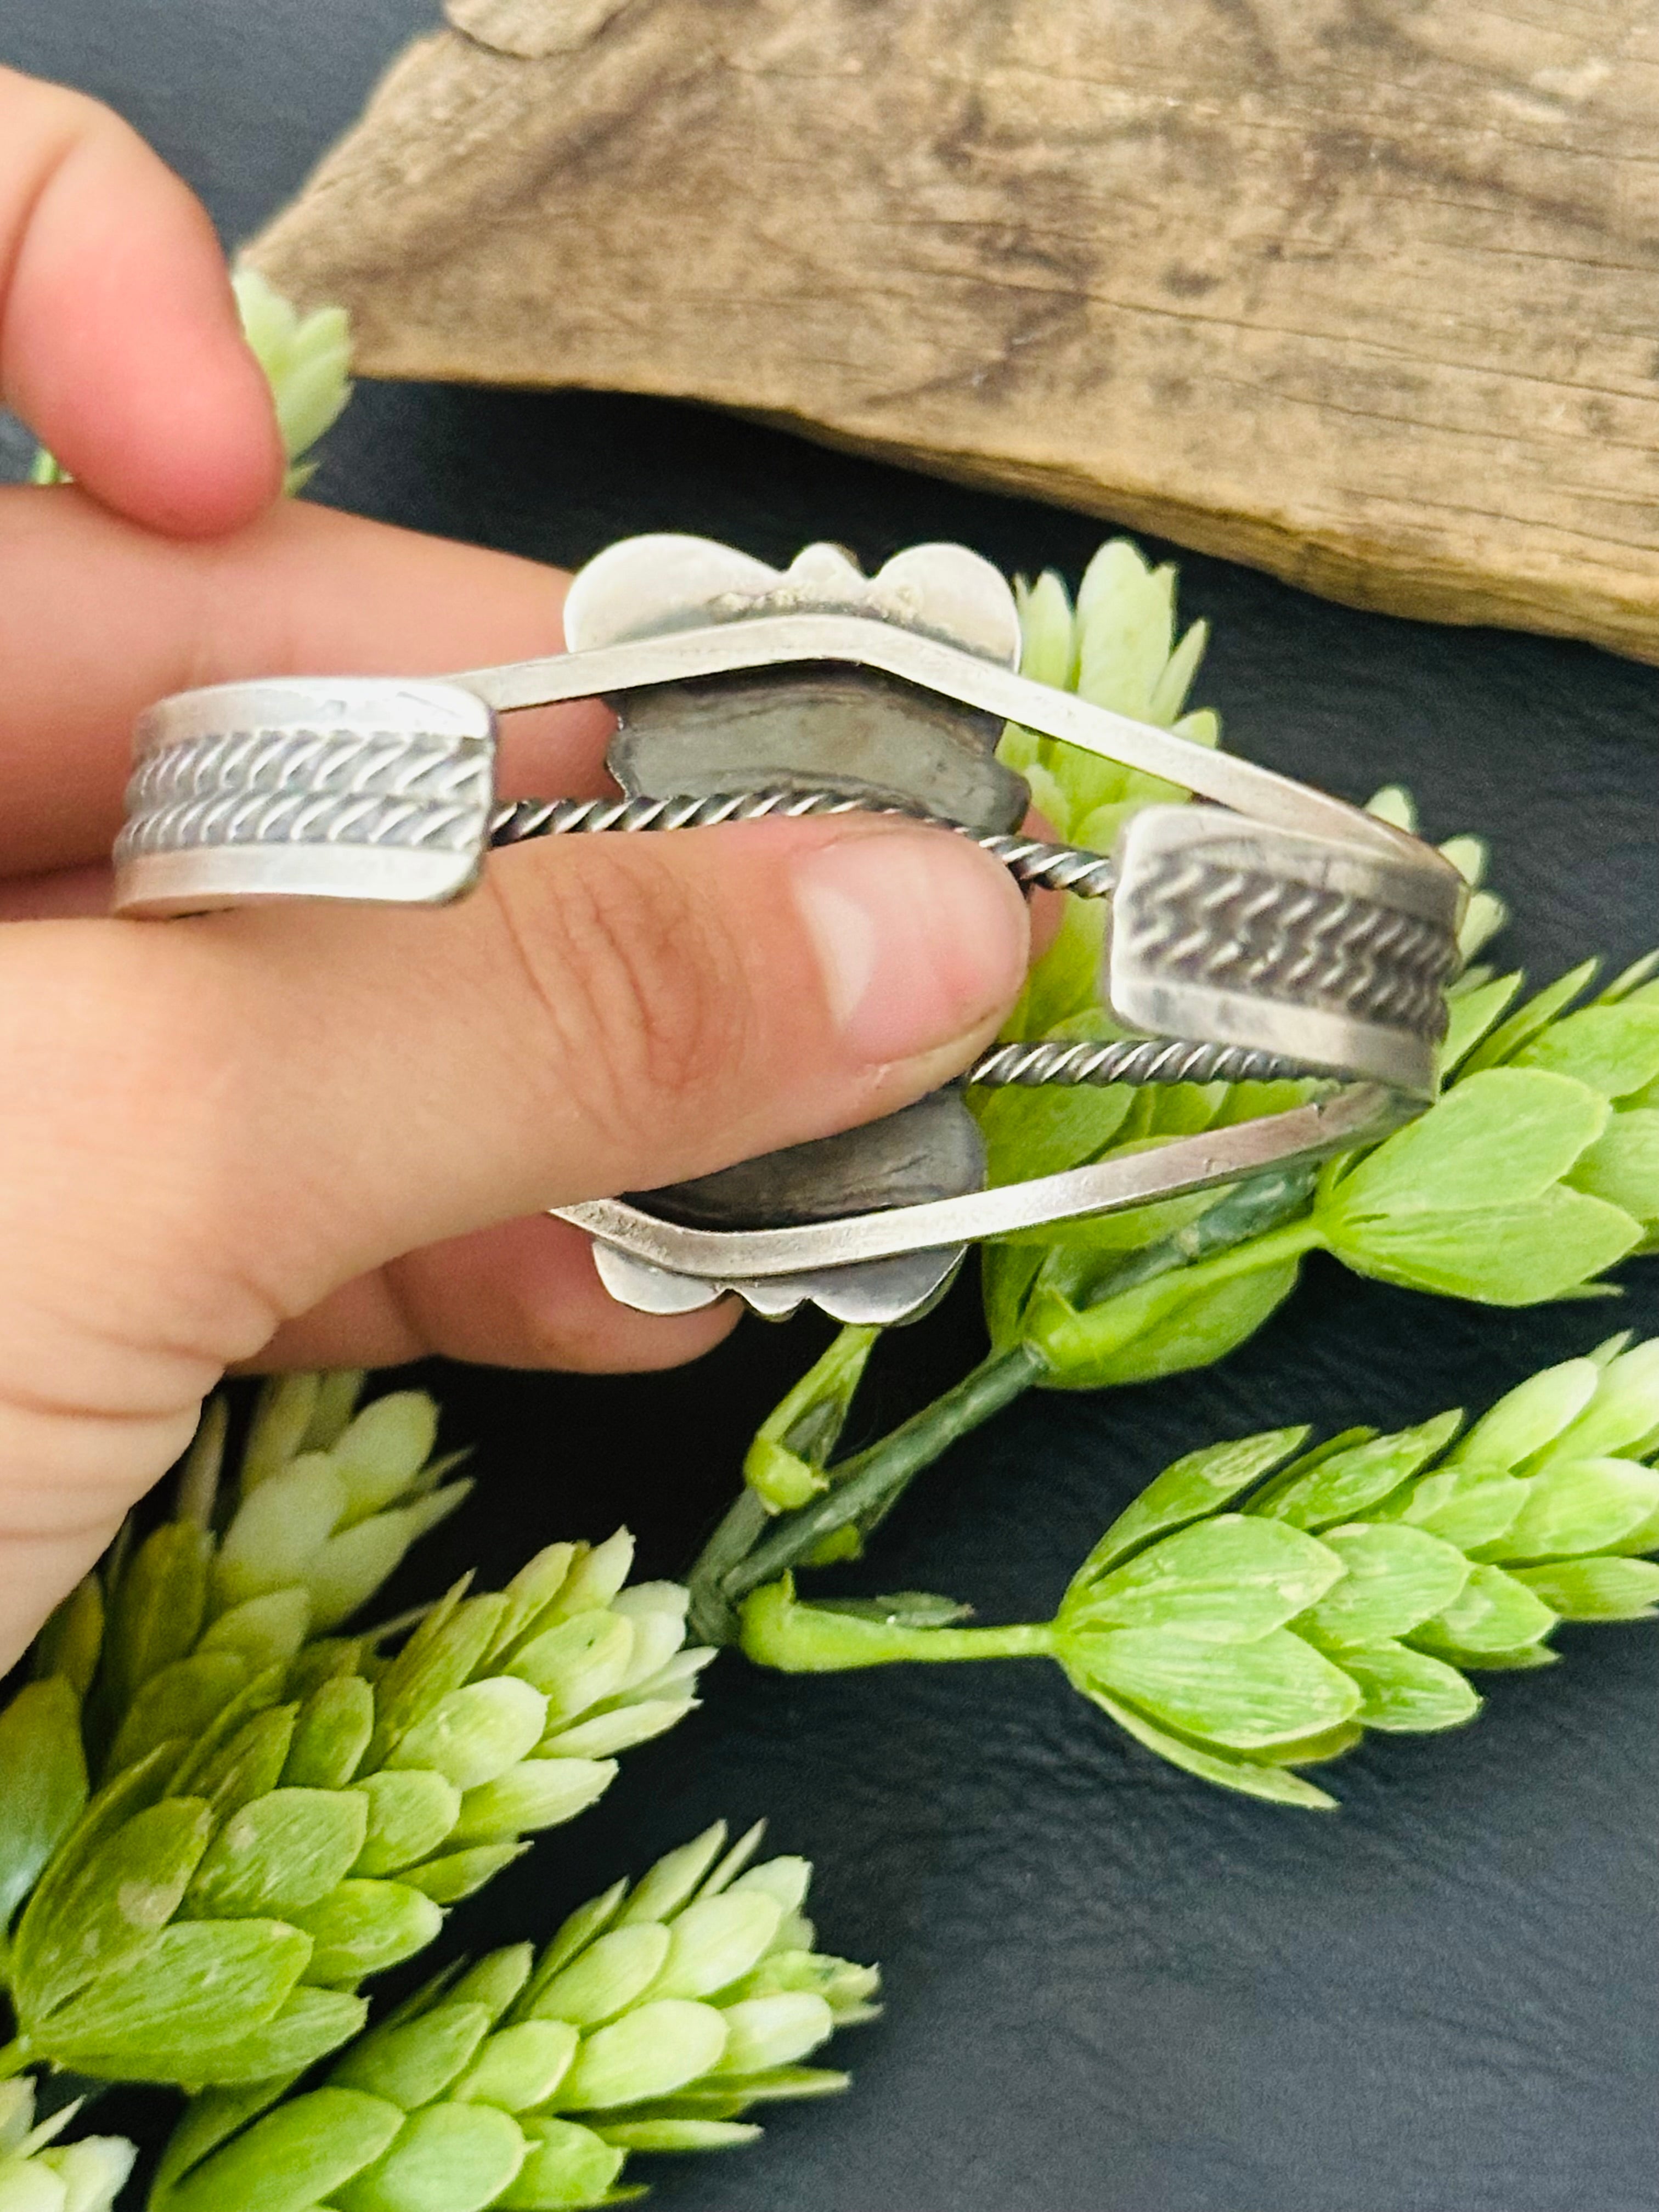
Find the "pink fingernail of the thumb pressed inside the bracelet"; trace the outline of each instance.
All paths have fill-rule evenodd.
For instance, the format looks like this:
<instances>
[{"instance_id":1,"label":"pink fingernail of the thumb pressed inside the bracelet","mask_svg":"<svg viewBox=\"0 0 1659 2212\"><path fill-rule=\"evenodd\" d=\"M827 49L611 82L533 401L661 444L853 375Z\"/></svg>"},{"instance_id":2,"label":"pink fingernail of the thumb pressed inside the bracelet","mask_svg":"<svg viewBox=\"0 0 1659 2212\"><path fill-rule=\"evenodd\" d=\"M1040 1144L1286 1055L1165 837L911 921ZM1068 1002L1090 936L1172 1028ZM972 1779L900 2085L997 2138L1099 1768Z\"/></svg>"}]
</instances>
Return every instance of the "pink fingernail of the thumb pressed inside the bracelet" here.
<instances>
[{"instance_id":1,"label":"pink fingernail of the thumb pressed inside the bracelet","mask_svg":"<svg viewBox=\"0 0 1659 2212\"><path fill-rule=\"evenodd\" d=\"M1013 878L940 830L858 830L805 858L796 896L852 1053L938 1051L1011 1006L1026 971Z\"/></svg>"}]
</instances>

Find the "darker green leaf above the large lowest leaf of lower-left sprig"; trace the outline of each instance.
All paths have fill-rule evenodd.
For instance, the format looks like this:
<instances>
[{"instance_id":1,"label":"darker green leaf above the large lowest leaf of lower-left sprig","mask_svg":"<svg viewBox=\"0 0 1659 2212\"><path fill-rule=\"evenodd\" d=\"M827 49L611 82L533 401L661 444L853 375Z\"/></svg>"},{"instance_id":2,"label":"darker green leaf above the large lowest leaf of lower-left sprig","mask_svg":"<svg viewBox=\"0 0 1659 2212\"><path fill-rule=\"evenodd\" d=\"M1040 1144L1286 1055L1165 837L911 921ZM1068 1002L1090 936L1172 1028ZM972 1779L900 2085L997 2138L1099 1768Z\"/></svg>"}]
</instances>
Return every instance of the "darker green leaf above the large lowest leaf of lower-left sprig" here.
<instances>
[{"instance_id":1,"label":"darker green leaf above the large lowest leaf of lower-left sprig","mask_svg":"<svg viewBox=\"0 0 1659 2212\"><path fill-rule=\"evenodd\" d=\"M164 1798L133 1814L42 1913L44 1891L24 1909L11 1986L24 2026L40 2033L88 1982L119 1978L179 1909L212 1834L199 1798Z\"/></svg>"}]
</instances>

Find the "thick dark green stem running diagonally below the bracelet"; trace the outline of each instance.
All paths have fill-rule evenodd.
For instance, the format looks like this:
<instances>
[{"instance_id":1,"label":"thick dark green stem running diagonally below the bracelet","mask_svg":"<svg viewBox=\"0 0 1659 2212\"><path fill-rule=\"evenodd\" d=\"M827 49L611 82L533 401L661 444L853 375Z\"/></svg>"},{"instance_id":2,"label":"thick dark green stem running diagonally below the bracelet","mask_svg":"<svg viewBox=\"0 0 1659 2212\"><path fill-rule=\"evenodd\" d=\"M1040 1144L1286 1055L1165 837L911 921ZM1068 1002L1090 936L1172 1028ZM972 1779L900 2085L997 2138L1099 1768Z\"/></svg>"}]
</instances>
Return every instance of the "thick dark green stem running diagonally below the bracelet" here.
<instances>
[{"instance_id":1,"label":"thick dark green stem running diagonally below the bracelet","mask_svg":"<svg viewBox=\"0 0 1659 2212\"><path fill-rule=\"evenodd\" d=\"M1020 1343L1004 1352L991 1352L920 1413L900 1422L867 1451L830 1469L834 1486L823 1498L814 1498L812 1504L799 1506L794 1513L783 1513L772 1524L772 1533L721 1575L719 1588L728 1606L796 1566L836 1528L852 1524L874 1528L898 1504L922 1467L931 1467L960 1436L1000 1413L1046 1371L1048 1363L1035 1345ZM739 1506L728 1513L728 1522ZM723 1531L726 1522L714 1542Z\"/></svg>"}]
</instances>

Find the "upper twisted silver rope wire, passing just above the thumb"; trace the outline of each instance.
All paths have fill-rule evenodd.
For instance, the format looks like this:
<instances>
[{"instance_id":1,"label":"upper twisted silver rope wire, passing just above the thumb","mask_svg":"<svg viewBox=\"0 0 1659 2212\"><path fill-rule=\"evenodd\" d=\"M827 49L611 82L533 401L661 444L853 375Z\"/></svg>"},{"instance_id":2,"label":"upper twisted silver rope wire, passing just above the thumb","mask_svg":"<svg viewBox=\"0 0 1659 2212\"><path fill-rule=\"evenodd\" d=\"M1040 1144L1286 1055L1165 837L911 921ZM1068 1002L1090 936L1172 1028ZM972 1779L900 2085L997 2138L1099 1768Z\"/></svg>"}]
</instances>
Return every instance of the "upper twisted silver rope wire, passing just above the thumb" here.
<instances>
[{"instance_id":1,"label":"upper twisted silver rope wire, passing just above the thumb","mask_svg":"<svg viewBox=\"0 0 1659 2212\"><path fill-rule=\"evenodd\" d=\"M967 823L927 814L922 807L883 805L847 792L717 792L712 799L692 794L675 799L518 799L500 805L491 816L489 843L520 845L531 836L604 830L712 830L717 823L754 823L770 816L799 821L805 814L896 814L973 838L993 860L1002 860L1018 883L1037 885L1044 891L1075 891L1077 898L1106 898L1113 889L1113 863L1106 854L1084 852L1077 845L1051 845L1035 836L969 830Z\"/></svg>"}]
</instances>

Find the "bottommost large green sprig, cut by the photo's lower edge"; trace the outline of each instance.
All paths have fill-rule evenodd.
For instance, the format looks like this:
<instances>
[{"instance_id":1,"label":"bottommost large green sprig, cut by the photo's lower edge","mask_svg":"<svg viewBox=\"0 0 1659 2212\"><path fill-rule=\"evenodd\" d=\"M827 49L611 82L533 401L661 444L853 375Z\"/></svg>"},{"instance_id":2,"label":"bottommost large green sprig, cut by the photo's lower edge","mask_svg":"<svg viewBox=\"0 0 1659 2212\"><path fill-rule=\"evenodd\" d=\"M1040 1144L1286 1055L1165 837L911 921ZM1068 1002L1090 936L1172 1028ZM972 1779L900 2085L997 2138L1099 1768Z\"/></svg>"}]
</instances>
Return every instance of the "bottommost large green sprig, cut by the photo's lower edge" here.
<instances>
[{"instance_id":1,"label":"bottommost large green sprig, cut by the photo's lower edge","mask_svg":"<svg viewBox=\"0 0 1659 2212\"><path fill-rule=\"evenodd\" d=\"M535 2212L619 2203L633 2152L752 2141L759 2104L874 2013L874 1966L814 1949L803 1858L750 1865L723 1823L580 1907L535 1955L445 1973L303 2095L206 2093L150 2212Z\"/></svg>"}]
</instances>

